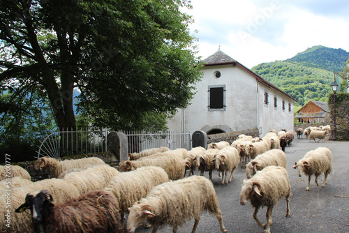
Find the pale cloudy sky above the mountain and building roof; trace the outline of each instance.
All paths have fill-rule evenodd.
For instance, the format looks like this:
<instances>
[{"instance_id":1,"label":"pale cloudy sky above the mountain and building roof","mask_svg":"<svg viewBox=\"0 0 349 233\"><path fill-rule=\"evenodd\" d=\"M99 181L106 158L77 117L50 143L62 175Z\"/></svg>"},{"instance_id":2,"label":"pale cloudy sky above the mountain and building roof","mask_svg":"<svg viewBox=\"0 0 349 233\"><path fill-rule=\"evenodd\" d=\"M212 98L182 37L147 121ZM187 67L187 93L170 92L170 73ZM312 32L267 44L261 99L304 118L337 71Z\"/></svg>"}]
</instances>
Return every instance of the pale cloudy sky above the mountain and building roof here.
<instances>
[{"instance_id":1,"label":"pale cloudy sky above the mountain and building roof","mask_svg":"<svg viewBox=\"0 0 349 233\"><path fill-rule=\"evenodd\" d=\"M191 0L198 56L221 51L247 68L323 45L349 52L348 0Z\"/></svg>"}]
</instances>

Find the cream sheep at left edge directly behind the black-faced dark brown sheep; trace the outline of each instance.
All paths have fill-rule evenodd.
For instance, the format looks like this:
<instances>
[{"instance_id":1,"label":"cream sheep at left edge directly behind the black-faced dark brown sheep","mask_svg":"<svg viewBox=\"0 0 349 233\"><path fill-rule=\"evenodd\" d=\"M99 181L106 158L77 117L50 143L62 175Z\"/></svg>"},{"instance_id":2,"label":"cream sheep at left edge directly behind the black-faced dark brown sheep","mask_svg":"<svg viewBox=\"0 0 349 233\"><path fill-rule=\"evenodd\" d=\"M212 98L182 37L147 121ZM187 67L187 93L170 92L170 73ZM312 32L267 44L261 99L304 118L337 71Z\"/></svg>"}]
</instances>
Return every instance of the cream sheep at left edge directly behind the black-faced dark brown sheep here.
<instances>
[{"instance_id":1,"label":"cream sheep at left edge directly behind the black-faced dark brown sheep","mask_svg":"<svg viewBox=\"0 0 349 233\"><path fill-rule=\"evenodd\" d=\"M0 232L33 232L33 226L31 221L30 213L24 212L22 214L15 213L15 208L20 206L26 195L28 193L36 192L38 190L47 189L52 194L57 202L66 202L73 197L80 195L79 190L73 183L69 183L63 179L43 179L41 181L36 181L30 183L26 186L21 186L19 188L13 188L12 193L10 193L10 213L11 213L11 222L10 228L6 227L4 221L0 221ZM0 211L5 214L6 208L6 193L0 197Z\"/></svg>"}]
</instances>

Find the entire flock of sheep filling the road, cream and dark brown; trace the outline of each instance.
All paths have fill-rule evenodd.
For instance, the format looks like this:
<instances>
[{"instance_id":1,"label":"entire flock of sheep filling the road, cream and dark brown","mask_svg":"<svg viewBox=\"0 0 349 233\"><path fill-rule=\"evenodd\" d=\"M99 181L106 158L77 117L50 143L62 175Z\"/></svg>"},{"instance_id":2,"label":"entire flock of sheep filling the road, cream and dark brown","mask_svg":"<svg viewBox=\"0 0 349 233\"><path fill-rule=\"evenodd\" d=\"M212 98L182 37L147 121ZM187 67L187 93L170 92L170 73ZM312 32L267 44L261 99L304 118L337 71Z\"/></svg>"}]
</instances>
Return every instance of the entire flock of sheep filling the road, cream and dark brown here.
<instances>
[{"instance_id":1,"label":"entire flock of sheep filling the road, cream and dark brown","mask_svg":"<svg viewBox=\"0 0 349 233\"><path fill-rule=\"evenodd\" d=\"M319 138L311 137L314 131L320 130L309 130L309 139ZM327 132L327 129L321 131ZM221 232L227 232L210 180L216 170L221 184L227 185L240 163L247 178L242 182L240 204L245 205L250 200L255 208L253 218L265 232L270 232L272 210L281 197L285 197L287 204L285 216L290 216L291 187L281 146L283 140L288 146L292 144L293 133L292 137L290 134L271 130L262 138L239 135L232 144L217 142L206 149L199 146L190 151L167 147L147 149L129 153L129 160L121 161L118 169L94 157L64 161L39 158L34 169L49 170L54 178L31 182L26 170L12 166L10 209L6 206L8 195L3 191L7 189L3 176L5 166L1 166L1 218L6 219L10 211L12 225L8 228L6 221L1 221L0 230L124 232L126 221L129 233L142 224L152 226L152 232L164 225L172 226L173 232L177 232L178 227L193 218L192 232L195 232L200 213L208 211L218 219ZM309 176L309 183L314 175L317 185L318 176L323 173L322 186L325 186L332 172L332 153L326 147L319 147L306 153L293 168L298 169L299 176L302 173ZM194 175L196 169L200 176ZM209 172L209 179L203 176L204 172ZM263 206L267 206L266 223L257 217Z\"/></svg>"}]
</instances>

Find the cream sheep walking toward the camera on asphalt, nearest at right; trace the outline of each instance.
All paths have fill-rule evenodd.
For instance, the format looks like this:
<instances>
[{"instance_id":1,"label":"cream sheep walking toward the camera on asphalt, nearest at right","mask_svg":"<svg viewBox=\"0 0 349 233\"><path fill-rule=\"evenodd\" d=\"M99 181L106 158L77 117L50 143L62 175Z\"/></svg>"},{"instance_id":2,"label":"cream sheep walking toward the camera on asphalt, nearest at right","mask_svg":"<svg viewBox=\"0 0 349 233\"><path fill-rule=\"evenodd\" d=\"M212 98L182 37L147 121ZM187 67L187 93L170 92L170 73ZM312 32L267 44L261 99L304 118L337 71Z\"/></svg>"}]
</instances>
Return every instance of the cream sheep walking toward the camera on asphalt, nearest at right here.
<instances>
[{"instance_id":1,"label":"cream sheep walking toward the camera on asphalt, nearest at right","mask_svg":"<svg viewBox=\"0 0 349 233\"><path fill-rule=\"evenodd\" d=\"M290 217L290 195L291 186L288 173L283 167L268 166L258 171L251 179L242 181L240 193L240 204L245 205L250 200L255 208L253 218L260 227L265 228L265 232L270 232L272 225L272 211L281 197L286 198L286 217ZM267 224L263 224L257 218L260 207L267 206Z\"/></svg>"}]
</instances>

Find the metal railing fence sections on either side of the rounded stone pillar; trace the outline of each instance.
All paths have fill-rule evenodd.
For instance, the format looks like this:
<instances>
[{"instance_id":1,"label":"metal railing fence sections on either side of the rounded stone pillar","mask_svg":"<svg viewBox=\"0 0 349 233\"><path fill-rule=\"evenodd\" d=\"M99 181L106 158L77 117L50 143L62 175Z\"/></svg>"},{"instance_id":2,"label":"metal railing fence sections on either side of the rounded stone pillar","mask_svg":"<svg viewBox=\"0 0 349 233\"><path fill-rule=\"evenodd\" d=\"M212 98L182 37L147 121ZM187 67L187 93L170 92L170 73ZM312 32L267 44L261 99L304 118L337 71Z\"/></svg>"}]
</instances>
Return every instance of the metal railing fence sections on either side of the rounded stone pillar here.
<instances>
[{"instance_id":1,"label":"metal railing fence sections on either side of the rounded stone pillar","mask_svg":"<svg viewBox=\"0 0 349 233\"><path fill-rule=\"evenodd\" d=\"M57 130L47 135L38 146L38 158L50 156L60 158L75 154L98 153L107 151L108 130L80 129ZM171 150L177 148L191 149L191 133L166 132L124 132L128 140L128 153L140 152L160 146Z\"/></svg>"}]
</instances>

